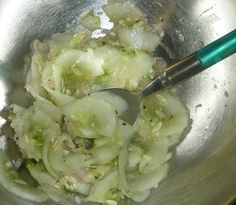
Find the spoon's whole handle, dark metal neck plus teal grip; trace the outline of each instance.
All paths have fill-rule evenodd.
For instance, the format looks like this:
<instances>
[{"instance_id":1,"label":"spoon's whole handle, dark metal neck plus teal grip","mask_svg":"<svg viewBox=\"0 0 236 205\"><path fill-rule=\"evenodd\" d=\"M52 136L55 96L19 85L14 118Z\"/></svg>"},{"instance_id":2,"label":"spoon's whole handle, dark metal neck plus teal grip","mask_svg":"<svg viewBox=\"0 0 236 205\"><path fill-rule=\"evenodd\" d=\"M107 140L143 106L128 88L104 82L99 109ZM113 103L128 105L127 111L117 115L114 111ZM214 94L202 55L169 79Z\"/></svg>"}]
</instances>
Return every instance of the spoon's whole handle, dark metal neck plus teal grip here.
<instances>
[{"instance_id":1,"label":"spoon's whole handle, dark metal neck plus teal grip","mask_svg":"<svg viewBox=\"0 0 236 205\"><path fill-rule=\"evenodd\" d=\"M168 67L144 88L142 95L145 97L159 89L177 84L234 53L236 53L236 30Z\"/></svg>"}]
</instances>

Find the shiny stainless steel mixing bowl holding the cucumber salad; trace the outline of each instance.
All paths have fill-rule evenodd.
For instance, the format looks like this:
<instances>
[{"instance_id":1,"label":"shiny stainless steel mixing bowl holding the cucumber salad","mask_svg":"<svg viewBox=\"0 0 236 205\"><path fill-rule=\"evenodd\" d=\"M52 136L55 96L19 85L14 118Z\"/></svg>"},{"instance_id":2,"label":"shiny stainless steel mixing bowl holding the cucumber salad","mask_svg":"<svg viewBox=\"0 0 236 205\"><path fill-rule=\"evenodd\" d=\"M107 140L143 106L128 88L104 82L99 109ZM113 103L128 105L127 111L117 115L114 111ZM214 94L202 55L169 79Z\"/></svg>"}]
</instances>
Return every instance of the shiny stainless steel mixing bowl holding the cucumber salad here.
<instances>
[{"instance_id":1,"label":"shiny stainless steel mixing bowl holding the cucumber salad","mask_svg":"<svg viewBox=\"0 0 236 205\"><path fill-rule=\"evenodd\" d=\"M152 24L163 23L169 63L236 27L235 0L134 0ZM78 16L99 0L0 0L0 107L26 104L23 56L36 38L78 30ZM178 146L169 177L145 205L223 205L236 195L236 56L178 86L192 129ZM4 74L4 70L1 69ZM0 120L2 123L3 120ZM4 144L4 136L0 138ZM31 204L0 189L0 204ZM49 203L45 203L49 204ZM51 203L50 203L51 204ZM53 203L52 203L53 204Z\"/></svg>"}]
</instances>

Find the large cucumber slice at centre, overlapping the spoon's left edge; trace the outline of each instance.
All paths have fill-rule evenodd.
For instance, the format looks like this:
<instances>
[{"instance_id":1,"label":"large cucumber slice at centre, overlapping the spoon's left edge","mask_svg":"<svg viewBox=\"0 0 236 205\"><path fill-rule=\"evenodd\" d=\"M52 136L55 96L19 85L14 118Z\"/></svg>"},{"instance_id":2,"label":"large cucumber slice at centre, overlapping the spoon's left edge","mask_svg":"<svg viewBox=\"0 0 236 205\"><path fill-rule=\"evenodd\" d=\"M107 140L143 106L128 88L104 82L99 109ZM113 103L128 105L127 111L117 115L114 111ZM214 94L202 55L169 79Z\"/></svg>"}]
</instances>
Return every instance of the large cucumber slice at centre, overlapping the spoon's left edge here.
<instances>
[{"instance_id":1,"label":"large cucumber slice at centre, overlapping the spoon's left edge","mask_svg":"<svg viewBox=\"0 0 236 205\"><path fill-rule=\"evenodd\" d=\"M93 130L100 135L113 137L117 129L117 117L114 108L105 101L87 96L62 108L67 123L77 128ZM77 129L78 130L78 129ZM74 135L81 133L74 129Z\"/></svg>"}]
</instances>

